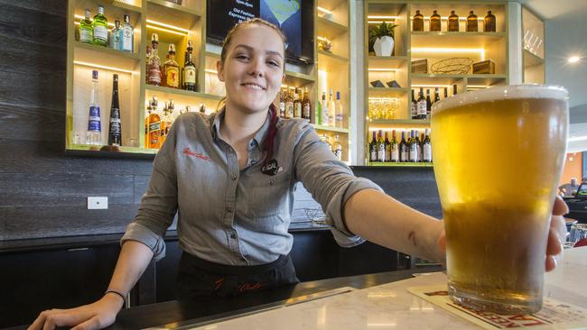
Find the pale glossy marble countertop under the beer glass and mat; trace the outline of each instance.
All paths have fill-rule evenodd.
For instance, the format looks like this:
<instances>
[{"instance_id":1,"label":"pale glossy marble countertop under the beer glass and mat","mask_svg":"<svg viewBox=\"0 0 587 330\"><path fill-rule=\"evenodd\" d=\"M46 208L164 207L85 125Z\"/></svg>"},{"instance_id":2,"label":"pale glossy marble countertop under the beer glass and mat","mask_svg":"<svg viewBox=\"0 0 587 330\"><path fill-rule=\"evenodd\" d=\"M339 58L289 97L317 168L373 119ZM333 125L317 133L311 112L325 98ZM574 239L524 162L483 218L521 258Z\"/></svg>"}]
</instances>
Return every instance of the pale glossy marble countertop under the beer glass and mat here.
<instances>
[{"instance_id":1,"label":"pale glossy marble countertop under the beer glass and mat","mask_svg":"<svg viewBox=\"0 0 587 330\"><path fill-rule=\"evenodd\" d=\"M545 297L587 308L587 247L565 251L564 261L545 276ZM479 329L407 291L410 287L446 283L443 272L371 287L342 288L331 296L281 307L266 307L246 316L175 324L198 330L300 329ZM587 324L585 324L587 327ZM167 329L169 325L152 329Z\"/></svg>"}]
</instances>

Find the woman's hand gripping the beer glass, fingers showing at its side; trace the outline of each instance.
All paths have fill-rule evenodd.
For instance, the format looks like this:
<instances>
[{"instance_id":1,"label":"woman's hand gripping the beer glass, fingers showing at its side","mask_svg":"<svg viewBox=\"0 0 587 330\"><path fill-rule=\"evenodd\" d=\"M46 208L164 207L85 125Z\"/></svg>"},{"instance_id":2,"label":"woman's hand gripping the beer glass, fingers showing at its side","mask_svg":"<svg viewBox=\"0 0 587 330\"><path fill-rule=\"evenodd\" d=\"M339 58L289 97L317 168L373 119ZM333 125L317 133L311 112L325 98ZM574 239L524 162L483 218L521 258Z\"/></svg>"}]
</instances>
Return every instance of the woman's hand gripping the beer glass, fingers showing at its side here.
<instances>
[{"instance_id":1,"label":"woman's hand gripping the beer glass, fingers showing at its side","mask_svg":"<svg viewBox=\"0 0 587 330\"><path fill-rule=\"evenodd\" d=\"M546 271L554 270L557 261L563 257L563 243L566 240L566 226L564 217L569 213L569 207L564 203L563 198L554 199L553 216L550 219L550 231L548 233L548 244L546 245ZM446 234L444 229L438 237L438 246L446 253ZM444 263L443 263L444 265Z\"/></svg>"}]
</instances>

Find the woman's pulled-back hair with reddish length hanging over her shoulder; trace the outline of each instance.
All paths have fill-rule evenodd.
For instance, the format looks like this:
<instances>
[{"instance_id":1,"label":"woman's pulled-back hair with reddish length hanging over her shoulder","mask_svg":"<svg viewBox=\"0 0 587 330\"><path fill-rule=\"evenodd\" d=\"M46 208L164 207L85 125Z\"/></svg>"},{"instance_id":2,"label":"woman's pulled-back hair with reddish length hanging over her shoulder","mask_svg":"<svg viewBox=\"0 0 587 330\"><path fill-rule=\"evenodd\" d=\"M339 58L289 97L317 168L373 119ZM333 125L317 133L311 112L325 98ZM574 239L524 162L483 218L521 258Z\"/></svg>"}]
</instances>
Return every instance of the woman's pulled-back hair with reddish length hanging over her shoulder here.
<instances>
[{"instance_id":1,"label":"woman's pulled-back hair with reddish length hanging over her shoulder","mask_svg":"<svg viewBox=\"0 0 587 330\"><path fill-rule=\"evenodd\" d=\"M275 26L275 24L269 23L266 20L263 20L261 18L253 18L253 19L235 24L235 26L233 26L232 29L230 29L230 31L228 32L227 37L222 42L222 51L220 52L220 65L222 67L224 67L224 60L226 60L226 58L227 58L228 46L230 46L230 42L232 41L232 36L235 34L235 32L238 31L238 29L240 29L244 26L247 26L247 25L251 25L251 24L265 25L265 26L273 29L275 32L277 32L279 37L281 37L281 40L284 42L284 54L285 54L285 50L287 49L287 39L285 38L284 32L281 32L281 30L279 30L279 28L277 26ZM285 72L285 63L284 63L284 72ZM226 99L226 96L223 97L219 101L219 107L225 101L225 99ZM269 129L267 131L265 141L263 142L263 151L266 151L266 154L264 157L265 164L267 161L271 160L273 157L273 145L274 145L274 140L275 140L275 134L277 133L277 120L278 120L277 109L275 108L275 105L273 103L271 105L269 105L269 120L270 120Z\"/></svg>"}]
</instances>

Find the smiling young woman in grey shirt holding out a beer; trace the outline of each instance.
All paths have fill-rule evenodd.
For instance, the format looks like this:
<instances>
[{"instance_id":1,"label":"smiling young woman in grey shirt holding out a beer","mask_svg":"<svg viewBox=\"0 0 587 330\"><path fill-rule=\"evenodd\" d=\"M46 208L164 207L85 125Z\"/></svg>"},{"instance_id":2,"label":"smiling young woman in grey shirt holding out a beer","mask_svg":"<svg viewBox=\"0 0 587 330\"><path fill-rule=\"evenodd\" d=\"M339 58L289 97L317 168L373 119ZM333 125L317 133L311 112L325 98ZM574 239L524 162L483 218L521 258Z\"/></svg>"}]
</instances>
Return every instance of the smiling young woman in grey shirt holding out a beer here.
<instances>
[{"instance_id":1,"label":"smiling young woman in grey shirt holding out a beer","mask_svg":"<svg viewBox=\"0 0 587 330\"><path fill-rule=\"evenodd\" d=\"M284 35L255 19L228 33L218 63L226 105L216 115L177 118L154 160L149 188L107 293L97 302L44 311L30 329L98 329L111 325L178 215L183 250L179 298L214 298L296 283L288 234L293 187L302 181L321 204L340 245L364 239L390 249L444 260L443 223L358 179L320 142L310 124L283 120L272 102L284 81ZM562 252L561 200L554 205L546 269ZM43 327L44 326L44 327Z\"/></svg>"}]
</instances>

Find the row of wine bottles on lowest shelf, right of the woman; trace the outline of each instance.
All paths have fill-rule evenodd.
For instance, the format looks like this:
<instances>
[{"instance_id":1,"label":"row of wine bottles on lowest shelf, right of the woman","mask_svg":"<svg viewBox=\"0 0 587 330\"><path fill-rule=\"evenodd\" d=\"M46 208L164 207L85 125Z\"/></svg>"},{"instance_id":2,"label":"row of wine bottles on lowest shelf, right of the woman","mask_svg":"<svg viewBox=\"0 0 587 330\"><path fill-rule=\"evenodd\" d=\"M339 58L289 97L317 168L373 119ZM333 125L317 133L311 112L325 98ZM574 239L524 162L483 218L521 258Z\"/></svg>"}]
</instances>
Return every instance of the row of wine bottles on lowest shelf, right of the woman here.
<instances>
[{"instance_id":1,"label":"row of wine bottles on lowest shelf, right of the woman","mask_svg":"<svg viewBox=\"0 0 587 330\"><path fill-rule=\"evenodd\" d=\"M391 141L387 132L384 135L382 130L373 131L368 148L370 162L432 162L430 129L424 133L418 130L402 131L401 140L397 140L396 130L393 130Z\"/></svg>"}]
</instances>

